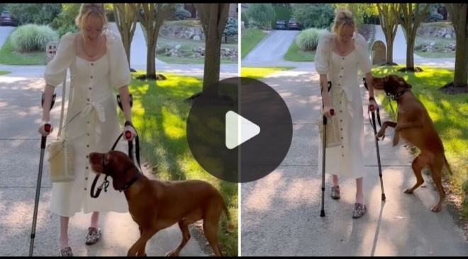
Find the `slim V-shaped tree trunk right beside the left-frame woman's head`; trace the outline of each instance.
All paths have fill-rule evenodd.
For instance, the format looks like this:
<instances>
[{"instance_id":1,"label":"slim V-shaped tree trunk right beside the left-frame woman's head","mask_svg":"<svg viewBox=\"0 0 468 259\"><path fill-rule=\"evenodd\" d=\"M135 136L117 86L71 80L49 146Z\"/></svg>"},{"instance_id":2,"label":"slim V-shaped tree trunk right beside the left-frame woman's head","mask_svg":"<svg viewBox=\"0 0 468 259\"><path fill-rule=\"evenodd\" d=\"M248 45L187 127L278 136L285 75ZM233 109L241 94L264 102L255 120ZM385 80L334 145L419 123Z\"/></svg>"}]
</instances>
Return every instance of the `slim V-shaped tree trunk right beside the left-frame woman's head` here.
<instances>
[{"instance_id":1,"label":"slim V-shaped tree trunk right beside the left-frame woman's head","mask_svg":"<svg viewBox=\"0 0 468 259\"><path fill-rule=\"evenodd\" d=\"M113 4L118 31L122 35L123 47L130 65L130 45L137 26L138 4Z\"/></svg>"}]
</instances>

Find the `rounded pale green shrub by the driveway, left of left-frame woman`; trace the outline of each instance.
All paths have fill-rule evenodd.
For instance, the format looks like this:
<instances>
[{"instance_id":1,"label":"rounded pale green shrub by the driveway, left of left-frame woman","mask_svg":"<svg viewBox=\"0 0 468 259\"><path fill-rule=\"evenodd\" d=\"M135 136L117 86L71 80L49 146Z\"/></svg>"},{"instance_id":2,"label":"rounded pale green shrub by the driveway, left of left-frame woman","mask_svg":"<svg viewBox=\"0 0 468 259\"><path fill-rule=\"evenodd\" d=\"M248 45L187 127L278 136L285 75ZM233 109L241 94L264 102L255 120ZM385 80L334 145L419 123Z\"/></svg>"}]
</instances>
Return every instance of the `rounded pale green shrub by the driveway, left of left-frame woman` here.
<instances>
[{"instance_id":1,"label":"rounded pale green shrub by the driveway, left of left-frame woman","mask_svg":"<svg viewBox=\"0 0 468 259\"><path fill-rule=\"evenodd\" d=\"M44 51L48 42L58 39L57 32L48 25L22 25L11 33L11 43L18 52Z\"/></svg>"}]
</instances>

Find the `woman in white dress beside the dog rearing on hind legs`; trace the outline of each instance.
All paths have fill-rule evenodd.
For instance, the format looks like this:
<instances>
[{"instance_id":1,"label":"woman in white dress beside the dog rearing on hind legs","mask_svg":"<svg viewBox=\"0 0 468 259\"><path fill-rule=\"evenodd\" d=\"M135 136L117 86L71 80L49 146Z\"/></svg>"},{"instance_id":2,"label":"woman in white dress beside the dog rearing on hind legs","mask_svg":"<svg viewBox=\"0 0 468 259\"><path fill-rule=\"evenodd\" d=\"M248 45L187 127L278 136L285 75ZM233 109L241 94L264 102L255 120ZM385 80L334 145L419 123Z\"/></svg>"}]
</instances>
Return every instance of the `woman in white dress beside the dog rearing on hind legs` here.
<instances>
[{"instance_id":1,"label":"woman in white dress beside the dog rearing on hind legs","mask_svg":"<svg viewBox=\"0 0 468 259\"><path fill-rule=\"evenodd\" d=\"M371 74L371 61L367 53L367 42L356 32L350 11L338 10L332 33L321 35L316 52L316 70L320 74L324 115L338 120L341 144L327 147L325 169L332 173L331 197L340 199L338 175L356 178L356 202L352 217L359 218L367 211L364 205L362 179L364 171L364 119L360 93L358 69L365 74L369 87L369 106L377 103ZM328 93L328 81L332 86ZM330 125L330 124L329 124ZM322 149L320 149L322 150ZM322 161L319 151L318 161ZM323 165L319 165L323 166ZM321 168L319 168L319 171Z\"/></svg>"}]
</instances>

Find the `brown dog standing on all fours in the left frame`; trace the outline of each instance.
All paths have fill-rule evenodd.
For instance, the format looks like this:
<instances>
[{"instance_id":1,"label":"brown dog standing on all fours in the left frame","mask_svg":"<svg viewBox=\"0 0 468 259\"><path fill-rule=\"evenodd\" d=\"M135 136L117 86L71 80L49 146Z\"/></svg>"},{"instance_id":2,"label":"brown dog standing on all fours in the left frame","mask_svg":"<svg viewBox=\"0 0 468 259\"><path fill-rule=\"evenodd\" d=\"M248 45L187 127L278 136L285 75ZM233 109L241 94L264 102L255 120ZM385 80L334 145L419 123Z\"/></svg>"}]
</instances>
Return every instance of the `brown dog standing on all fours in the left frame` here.
<instances>
[{"instance_id":1,"label":"brown dog standing on all fours in the left frame","mask_svg":"<svg viewBox=\"0 0 468 259\"><path fill-rule=\"evenodd\" d=\"M140 238L128 250L128 256L146 255L147 241L175 223L182 230L182 243L166 255L178 256L190 238L189 224L203 219L204 234L216 256L223 256L218 244L218 223L224 211L230 215L221 194L201 180L162 182L150 180L141 173L127 154L109 151L89 154L96 173L112 177L113 188L123 190L128 210L140 229ZM228 224L228 231L233 225Z\"/></svg>"}]
</instances>

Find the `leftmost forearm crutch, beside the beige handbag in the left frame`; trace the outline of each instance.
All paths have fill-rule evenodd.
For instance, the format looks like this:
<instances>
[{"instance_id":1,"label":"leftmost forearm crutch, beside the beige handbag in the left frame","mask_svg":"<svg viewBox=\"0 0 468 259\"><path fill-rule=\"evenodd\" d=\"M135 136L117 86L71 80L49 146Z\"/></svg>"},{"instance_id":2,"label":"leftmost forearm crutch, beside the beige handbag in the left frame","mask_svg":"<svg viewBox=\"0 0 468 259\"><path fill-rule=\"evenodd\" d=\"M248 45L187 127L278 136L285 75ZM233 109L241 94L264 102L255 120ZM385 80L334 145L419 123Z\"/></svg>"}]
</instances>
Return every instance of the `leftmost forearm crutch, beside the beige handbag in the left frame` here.
<instances>
[{"instance_id":1,"label":"leftmost forearm crutch, beside the beige handbag in the left frame","mask_svg":"<svg viewBox=\"0 0 468 259\"><path fill-rule=\"evenodd\" d=\"M41 106L44 106L44 93L40 100ZM50 103L50 110L55 103L55 93L52 96L52 102ZM50 124L44 125L45 132L50 132ZM33 227L31 228L30 243L29 243L29 256L33 256L34 248L34 238L35 238L35 225L38 219L38 206L39 206L39 197L40 197L40 183L43 179L43 161L44 161L44 151L45 151L45 141L47 136L42 136L40 138L40 159L39 159L39 172L38 172L38 184L35 188L35 200L34 200L34 212L33 212Z\"/></svg>"}]
</instances>

